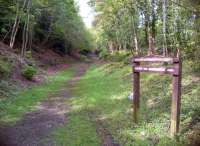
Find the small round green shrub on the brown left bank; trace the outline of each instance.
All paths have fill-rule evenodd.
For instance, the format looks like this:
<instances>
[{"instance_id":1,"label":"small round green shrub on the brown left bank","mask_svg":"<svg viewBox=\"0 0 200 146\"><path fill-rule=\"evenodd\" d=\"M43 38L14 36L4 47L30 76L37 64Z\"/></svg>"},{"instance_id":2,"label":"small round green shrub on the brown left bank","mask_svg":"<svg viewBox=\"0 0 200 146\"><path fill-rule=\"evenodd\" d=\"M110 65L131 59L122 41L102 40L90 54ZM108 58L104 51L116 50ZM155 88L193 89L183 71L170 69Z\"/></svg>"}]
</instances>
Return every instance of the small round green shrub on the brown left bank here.
<instances>
[{"instance_id":1,"label":"small round green shrub on the brown left bank","mask_svg":"<svg viewBox=\"0 0 200 146\"><path fill-rule=\"evenodd\" d=\"M36 73L37 69L34 68L33 66L25 66L24 69L22 70L22 75L28 80L32 80L33 76Z\"/></svg>"}]
</instances>

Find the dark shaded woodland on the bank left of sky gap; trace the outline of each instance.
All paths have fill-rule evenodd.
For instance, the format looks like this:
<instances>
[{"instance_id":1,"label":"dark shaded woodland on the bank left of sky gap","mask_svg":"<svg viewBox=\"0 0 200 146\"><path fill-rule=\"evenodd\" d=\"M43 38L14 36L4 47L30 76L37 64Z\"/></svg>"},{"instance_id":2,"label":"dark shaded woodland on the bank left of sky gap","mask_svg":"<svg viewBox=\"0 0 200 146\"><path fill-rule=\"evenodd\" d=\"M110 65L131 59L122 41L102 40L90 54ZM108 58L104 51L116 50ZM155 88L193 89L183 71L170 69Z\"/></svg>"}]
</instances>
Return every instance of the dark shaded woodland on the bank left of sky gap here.
<instances>
[{"instance_id":1,"label":"dark shaded woodland on the bank left of sky gap","mask_svg":"<svg viewBox=\"0 0 200 146\"><path fill-rule=\"evenodd\" d=\"M34 47L61 53L91 48L91 36L74 0L1 0L1 41L20 48L22 56Z\"/></svg>"}]
</instances>

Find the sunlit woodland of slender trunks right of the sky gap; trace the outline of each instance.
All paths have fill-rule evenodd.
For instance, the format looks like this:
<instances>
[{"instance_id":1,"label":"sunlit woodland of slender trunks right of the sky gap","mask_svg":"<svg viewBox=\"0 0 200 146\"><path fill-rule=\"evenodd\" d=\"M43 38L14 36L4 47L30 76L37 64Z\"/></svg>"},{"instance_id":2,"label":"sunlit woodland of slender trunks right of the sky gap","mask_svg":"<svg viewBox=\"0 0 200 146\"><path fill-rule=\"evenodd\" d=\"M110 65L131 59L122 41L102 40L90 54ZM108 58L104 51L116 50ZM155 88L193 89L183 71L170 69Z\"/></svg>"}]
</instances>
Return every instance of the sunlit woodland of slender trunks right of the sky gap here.
<instances>
[{"instance_id":1,"label":"sunlit woodland of slender trunks right of the sky gap","mask_svg":"<svg viewBox=\"0 0 200 146\"><path fill-rule=\"evenodd\" d=\"M200 64L199 1L91 0L90 4L97 13L98 48L165 56L180 50L183 58Z\"/></svg>"}]
</instances>

